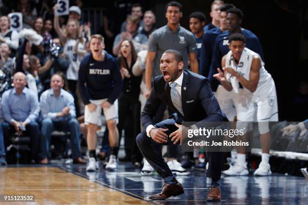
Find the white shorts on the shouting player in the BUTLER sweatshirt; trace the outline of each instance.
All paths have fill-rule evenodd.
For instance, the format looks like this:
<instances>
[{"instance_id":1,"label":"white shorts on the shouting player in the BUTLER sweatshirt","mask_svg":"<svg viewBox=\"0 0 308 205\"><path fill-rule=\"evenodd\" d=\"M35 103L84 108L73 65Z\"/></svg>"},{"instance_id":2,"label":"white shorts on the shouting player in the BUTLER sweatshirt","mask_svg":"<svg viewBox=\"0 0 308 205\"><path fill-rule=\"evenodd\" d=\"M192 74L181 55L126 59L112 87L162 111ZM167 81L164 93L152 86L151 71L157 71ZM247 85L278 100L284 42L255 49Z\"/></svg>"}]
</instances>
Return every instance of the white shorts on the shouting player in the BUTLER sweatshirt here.
<instances>
[{"instance_id":1,"label":"white shorts on the shouting player in the BUTLER sweatshirt","mask_svg":"<svg viewBox=\"0 0 308 205\"><path fill-rule=\"evenodd\" d=\"M103 101L106 101L107 98L105 99L90 99L90 102L95 104L96 110L94 112L90 112L88 110L88 106L85 107L85 124L89 125L89 123L101 126L102 125L102 119L101 119L101 114L102 114L102 103ZM118 117L118 99L116 99L113 103L113 105L110 108L103 109L104 110L104 115L107 120L115 120L116 123L118 124L119 122L119 117Z\"/></svg>"}]
</instances>

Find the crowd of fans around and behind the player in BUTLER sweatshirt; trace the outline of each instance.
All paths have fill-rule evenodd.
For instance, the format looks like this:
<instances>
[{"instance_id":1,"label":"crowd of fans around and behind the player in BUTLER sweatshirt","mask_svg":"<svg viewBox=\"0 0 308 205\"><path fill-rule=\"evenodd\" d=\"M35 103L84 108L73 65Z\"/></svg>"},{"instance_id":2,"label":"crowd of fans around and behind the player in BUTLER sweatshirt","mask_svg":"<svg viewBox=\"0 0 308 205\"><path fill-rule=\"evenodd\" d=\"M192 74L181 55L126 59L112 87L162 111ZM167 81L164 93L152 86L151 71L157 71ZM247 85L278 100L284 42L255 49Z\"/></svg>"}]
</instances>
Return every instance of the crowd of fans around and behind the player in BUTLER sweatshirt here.
<instances>
[{"instance_id":1,"label":"crowd of fans around and behind the player in BUTLER sweatshirt","mask_svg":"<svg viewBox=\"0 0 308 205\"><path fill-rule=\"evenodd\" d=\"M85 163L80 141L81 136L86 140L88 133L83 120L85 105L77 84L81 60L90 53L91 23L82 21L81 1L73 2L68 16L55 15L59 8L56 1L18 3L17 7L6 1L0 5L0 93L4 105L1 108L4 111L1 113L1 164L6 164L10 137L23 134L31 138L31 163L48 163L54 130L70 133L73 162ZM12 27L15 23L11 22L9 14L14 12L22 14L21 30ZM155 14L152 11L143 14L139 4L132 5L131 14L120 25L121 33L116 35L113 48L109 48L114 56L118 56L124 80L119 96L121 115L118 124L120 134L125 130L126 136L127 157L124 161L130 160L130 141L140 131L138 97L141 75L135 77L132 67L137 61L137 53L147 49L148 36L156 29L154 25ZM131 120L132 115L134 121ZM108 132L106 129L105 136ZM108 147L109 140L105 137L98 156L104 159ZM138 155L138 160L134 161L138 161L140 166L140 152Z\"/></svg>"}]
</instances>

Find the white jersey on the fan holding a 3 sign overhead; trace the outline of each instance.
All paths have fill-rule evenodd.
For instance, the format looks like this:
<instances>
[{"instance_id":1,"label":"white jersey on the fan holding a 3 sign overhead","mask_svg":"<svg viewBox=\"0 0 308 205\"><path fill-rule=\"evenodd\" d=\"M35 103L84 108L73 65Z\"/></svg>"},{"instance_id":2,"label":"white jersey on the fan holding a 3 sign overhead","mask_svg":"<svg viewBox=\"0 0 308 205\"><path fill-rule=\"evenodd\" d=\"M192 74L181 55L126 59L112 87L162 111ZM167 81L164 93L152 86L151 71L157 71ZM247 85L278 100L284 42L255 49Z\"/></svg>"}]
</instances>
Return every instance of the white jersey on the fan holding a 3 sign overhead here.
<instances>
[{"instance_id":1,"label":"white jersey on the fan holding a 3 sign overhead","mask_svg":"<svg viewBox=\"0 0 308 205\"><path fill-rule=\"evenodd\" d=\"M85 39L84 41L85 42ZM69 59L69 66L66 71L66 77L68 80L78 80L78 71L81 61L81 56L78 55L74 51L74 47L76 44L76 40L72 38L67 38L64 44L63 52L68 56ZM78 48L84 49L84 43L79 43Z\"/></svg>"}]
</instances>

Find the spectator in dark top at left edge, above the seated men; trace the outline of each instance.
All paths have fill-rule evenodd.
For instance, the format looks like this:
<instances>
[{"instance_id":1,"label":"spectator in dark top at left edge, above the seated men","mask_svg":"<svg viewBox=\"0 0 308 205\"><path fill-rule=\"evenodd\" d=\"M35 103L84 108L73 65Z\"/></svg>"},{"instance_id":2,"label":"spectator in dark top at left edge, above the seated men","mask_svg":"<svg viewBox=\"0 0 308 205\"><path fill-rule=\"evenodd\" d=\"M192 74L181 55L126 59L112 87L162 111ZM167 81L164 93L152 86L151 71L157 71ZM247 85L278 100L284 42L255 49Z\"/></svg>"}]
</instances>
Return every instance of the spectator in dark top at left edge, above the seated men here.
<instances>
[{"instance_id":1,"label":"spectator in dark top at left edge, above the seated men","mask_svg":"<svg viewBox=\"0 0 308 205\"><path fill-rule=\"evenodd\" d=\"M1 43L0 44L0 56L1 56L0 70L5 75L3 75L0 78L0 84L2 84L3 86L4 83L7 82L7 86L5 86L3 90L0 90L0 96L4 91L6 91L7 89L10 89L13 83L13 73L15 72L15 59L9 57L10 53L11 53L11 49L9 45L7 43Z\"/></svg>"}]
</instances>

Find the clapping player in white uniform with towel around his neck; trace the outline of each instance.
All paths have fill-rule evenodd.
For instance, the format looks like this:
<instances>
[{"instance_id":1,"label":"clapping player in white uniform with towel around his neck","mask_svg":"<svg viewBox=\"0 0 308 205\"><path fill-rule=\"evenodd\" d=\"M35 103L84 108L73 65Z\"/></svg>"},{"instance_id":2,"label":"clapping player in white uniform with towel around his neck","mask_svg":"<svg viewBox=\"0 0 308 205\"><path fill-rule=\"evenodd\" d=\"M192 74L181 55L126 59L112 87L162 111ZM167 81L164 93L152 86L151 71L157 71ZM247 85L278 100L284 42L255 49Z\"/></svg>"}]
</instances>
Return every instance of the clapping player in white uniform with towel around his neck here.
<instances>
[{"instance_id":1,"label":"clapping player in white uniform with towel around his neck","mask_svg":"<svg viewBox=\"0 0 308 205\"><path fill-rule=\"evenodd\" d=\"M237 128L247 127L247 122L258 121L262 161L254 175L270 175L270 130L268 122L278 121L276 88L272 76L265 70L259 54L245 47L245 37L233 34L229 37L230 51L223 56L214 75L228 91L234 91L237 111ZM256 118L255 118L256 116ZM248 130L249 131L249 130ZM245 148L238 148L237 162L223 172L225 175L248 175Z\"/></svg>"}]
</instances>

